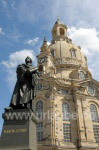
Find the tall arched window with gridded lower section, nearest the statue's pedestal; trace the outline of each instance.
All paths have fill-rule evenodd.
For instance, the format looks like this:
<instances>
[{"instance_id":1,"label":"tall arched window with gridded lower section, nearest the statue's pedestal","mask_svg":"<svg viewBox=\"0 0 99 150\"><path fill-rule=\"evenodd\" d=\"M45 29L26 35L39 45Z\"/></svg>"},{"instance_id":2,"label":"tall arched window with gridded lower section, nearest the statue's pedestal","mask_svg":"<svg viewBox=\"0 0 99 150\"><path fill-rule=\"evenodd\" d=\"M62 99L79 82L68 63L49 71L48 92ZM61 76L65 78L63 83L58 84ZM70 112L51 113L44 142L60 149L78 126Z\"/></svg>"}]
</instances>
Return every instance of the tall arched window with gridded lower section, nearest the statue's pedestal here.
<instances>
[{"instance_id":1,"label":"tall arched window with gridded lower section, nearest the statue's pedestal","mask_svg":"<svg viewBox=\"0 0 99 150\"><path fill-rule=\"evenodd\" d=\"M40 123L37 125L37 140L42 141L43 139L43 102L38 101L36 103L36 116L40 119Z\"/></svg>"}]
</instances>

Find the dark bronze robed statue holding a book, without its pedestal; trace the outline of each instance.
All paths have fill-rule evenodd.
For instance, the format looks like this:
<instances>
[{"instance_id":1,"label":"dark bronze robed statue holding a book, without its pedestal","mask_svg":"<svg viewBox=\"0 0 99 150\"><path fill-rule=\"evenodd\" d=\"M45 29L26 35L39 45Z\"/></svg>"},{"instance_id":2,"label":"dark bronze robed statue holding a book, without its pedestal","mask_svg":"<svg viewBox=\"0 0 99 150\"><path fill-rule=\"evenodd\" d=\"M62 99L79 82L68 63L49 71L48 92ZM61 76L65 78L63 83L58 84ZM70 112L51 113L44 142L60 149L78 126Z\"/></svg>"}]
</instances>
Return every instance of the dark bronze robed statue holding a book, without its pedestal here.
<instances>
[{"instance_id":1,"label":"dark bronze robed statue holding a book, without its pedestal","mask_svg":"<svg viewBox=\"0 0 99 150\"><path fill-rule=\"evenodd\" d=\"M23 108L32 109L32 100L35 96L38 69L32 66L31 58L27 57L25 59L25 64L21 64L17 67L16 73L17 82L11 98L10 106L5 110Z\"/></svg>"}]
</instances>

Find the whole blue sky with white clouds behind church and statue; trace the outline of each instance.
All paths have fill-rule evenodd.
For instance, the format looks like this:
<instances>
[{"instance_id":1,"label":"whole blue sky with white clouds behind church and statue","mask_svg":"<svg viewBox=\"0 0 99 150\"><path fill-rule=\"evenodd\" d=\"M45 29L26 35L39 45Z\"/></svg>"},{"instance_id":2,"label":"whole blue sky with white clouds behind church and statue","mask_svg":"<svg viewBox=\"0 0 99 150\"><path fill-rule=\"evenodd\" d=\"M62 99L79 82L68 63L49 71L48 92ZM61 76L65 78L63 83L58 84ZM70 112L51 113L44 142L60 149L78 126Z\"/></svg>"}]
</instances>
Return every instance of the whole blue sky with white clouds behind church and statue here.
<instances>
[{"instance_id":1,"label":"whole blue sky with white clouds behind church and statue","mask_svg":"<svg viewBox=\"0 0 99 150\"><path fill-rule=\"evenodd\" d=\"M36 65L43 37L60 16L68 36L88 58L93 78L99 81L98 0L0 0L0 130L16 81L15 68L27 55Z\"/></svg>"}]
</instances>

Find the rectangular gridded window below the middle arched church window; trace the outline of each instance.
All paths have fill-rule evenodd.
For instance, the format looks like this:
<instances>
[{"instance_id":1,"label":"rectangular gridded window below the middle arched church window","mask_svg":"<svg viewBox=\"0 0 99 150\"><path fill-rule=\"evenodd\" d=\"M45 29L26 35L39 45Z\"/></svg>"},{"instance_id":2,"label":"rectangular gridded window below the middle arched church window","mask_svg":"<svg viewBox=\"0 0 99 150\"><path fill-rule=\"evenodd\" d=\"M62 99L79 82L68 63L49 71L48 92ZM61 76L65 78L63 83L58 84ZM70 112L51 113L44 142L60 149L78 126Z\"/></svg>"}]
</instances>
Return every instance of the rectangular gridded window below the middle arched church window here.
<instances>
[{"instance_id":1,"label":"rectangular gridded window below the middle arched church window","mask_svg":"<svg viewBox=\"0 0 99 150\"><path fill-rule=\"evenodd\" d=\"M70 124L63 124L64 142L71 142L71 127Z\"/></svg>"}]
</instances>

